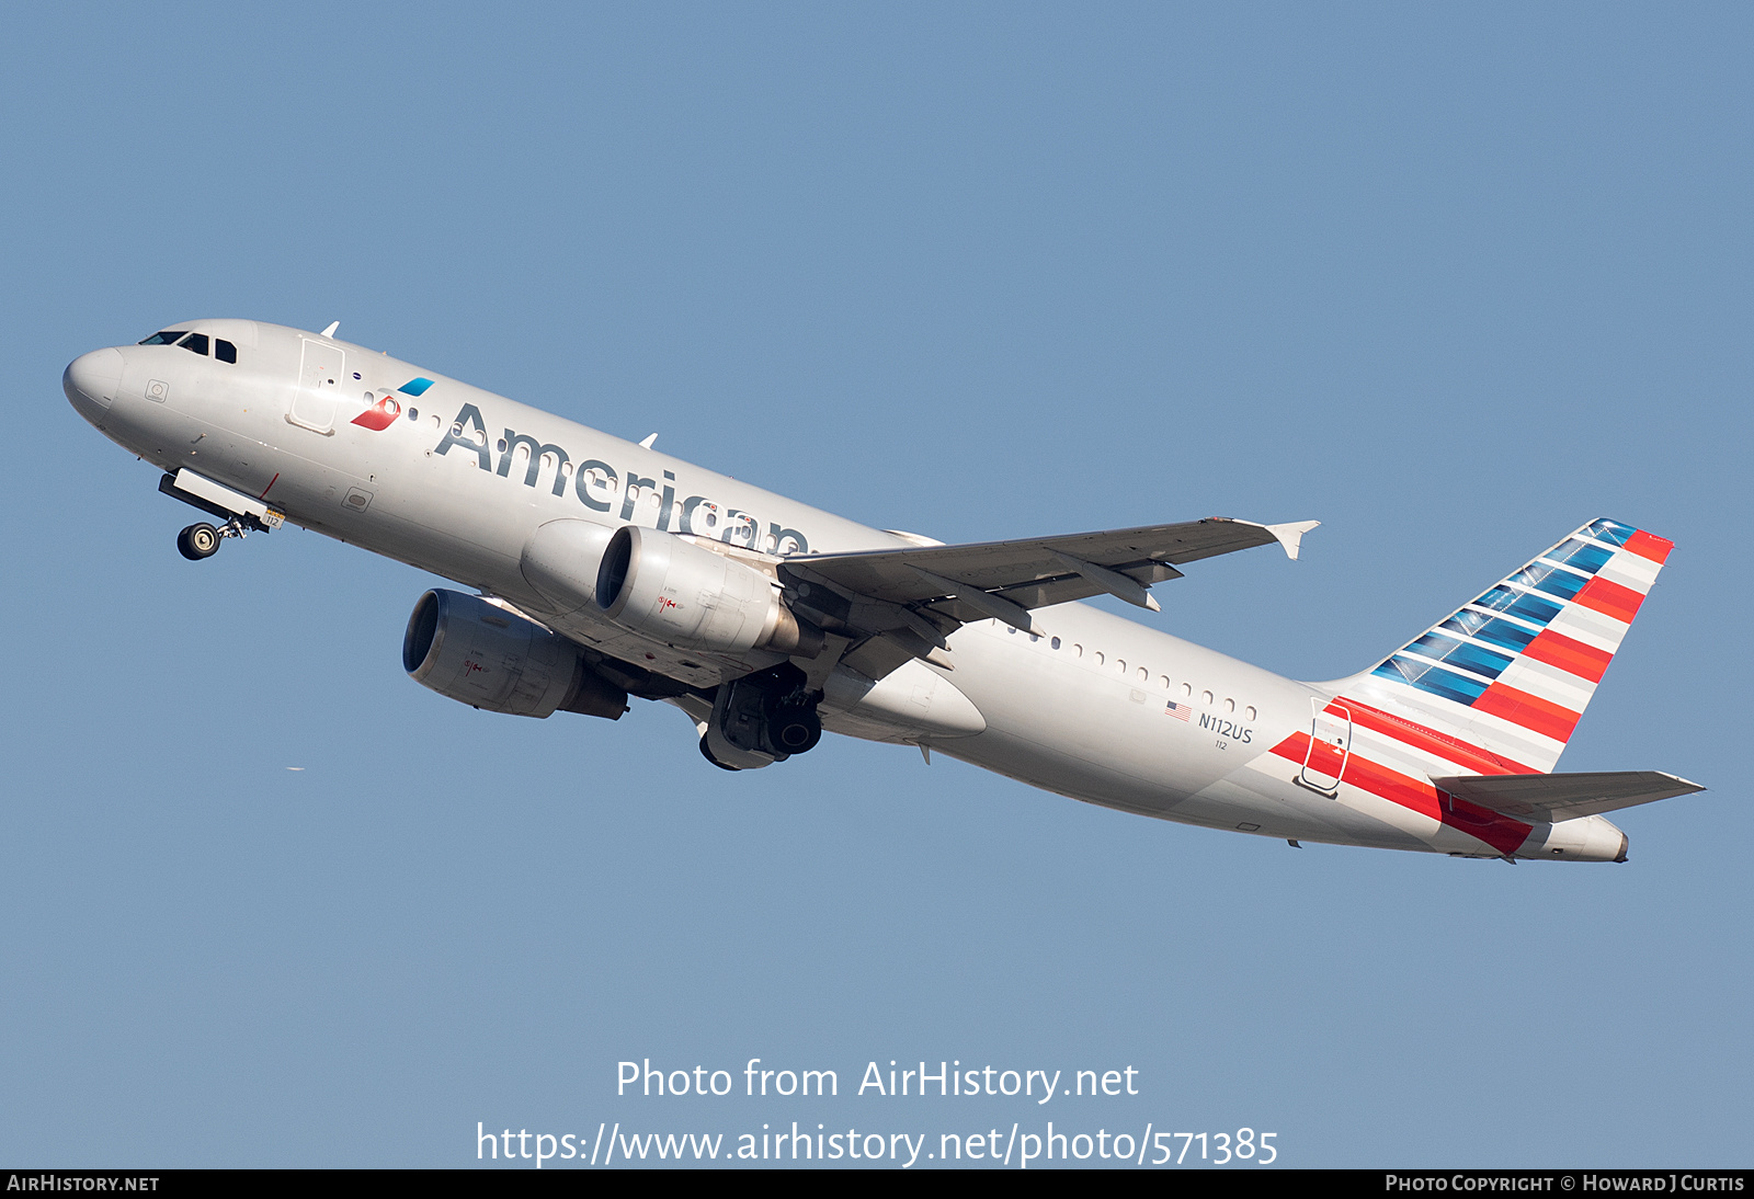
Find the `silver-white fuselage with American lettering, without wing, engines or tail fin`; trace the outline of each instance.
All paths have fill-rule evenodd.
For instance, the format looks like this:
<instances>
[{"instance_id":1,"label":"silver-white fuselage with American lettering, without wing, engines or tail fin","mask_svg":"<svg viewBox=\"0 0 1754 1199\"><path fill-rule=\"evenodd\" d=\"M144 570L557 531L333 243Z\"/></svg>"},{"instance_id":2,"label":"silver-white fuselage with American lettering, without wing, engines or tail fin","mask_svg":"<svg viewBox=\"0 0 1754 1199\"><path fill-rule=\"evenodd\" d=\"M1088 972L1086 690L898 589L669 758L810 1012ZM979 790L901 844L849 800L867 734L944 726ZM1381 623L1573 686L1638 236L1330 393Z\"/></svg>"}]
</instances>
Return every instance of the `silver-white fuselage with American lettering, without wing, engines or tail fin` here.
<instances>
[{"instance_id":1,"label":"silver-white fuselage with American lettering, without wing, engines or tail fin","mask_svg":"<svg viewBox=\"0 0 1754 1199\"><path fill-rule=\"evenodd\" d=\"M777 557L921 540L333 337L253 321L172 328L203 333L207 352L125 345L68 366L68 398L111 440L691 687L710 691L761 661L554 612L521 570L538 528L633 524ZM1479 764L1442 740L1403 734L1393 713L1349 715L1345 743L1330 750L1321 713L1333 687L1082 603L1040 615L1044 636L998 621L959 628L949 636L954 670L912 661L877 687L838 673L824 727L926 745L1089 803L1294 841L1573 861L1624 852L1601 817L1531 826L1444 805L1430 778Z\"/></svg>"}]
</instances>

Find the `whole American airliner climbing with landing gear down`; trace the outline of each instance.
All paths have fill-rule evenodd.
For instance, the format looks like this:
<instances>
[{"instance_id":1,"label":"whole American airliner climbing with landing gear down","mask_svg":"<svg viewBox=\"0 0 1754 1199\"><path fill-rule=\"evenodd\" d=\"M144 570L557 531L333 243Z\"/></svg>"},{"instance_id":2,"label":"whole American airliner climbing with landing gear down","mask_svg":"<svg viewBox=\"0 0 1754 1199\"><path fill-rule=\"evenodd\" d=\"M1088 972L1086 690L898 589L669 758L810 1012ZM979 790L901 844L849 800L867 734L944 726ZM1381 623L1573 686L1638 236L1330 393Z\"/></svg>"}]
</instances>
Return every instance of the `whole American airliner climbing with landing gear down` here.
<instances>
[{"instance_id":1,"label":"whole American airliner climbing with landing gear down","mask_svg":"<svg viewBox=\"0 0 1754 1199\"><path fill-rule=\"evenodd\" d=\"M1316 521L945 545L872 529L335 337L179 321L74 359L88 422L217 524L284 522L451 578L402 664L486 712L667 701L761 770L823 731L914 745L1123 812L1305 843L1624 862L1603 813L1696 791L1552 773L1672 542L1589 521L1366 670L1296 682L1080 600Z\"/></svg>"}]
</instances>

